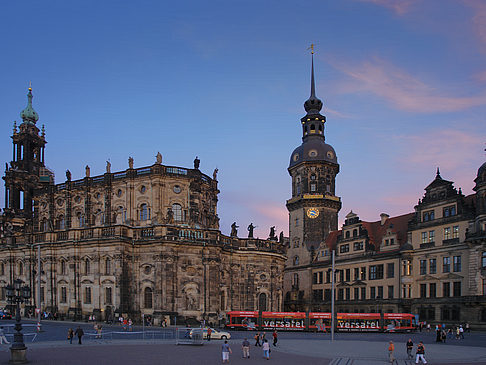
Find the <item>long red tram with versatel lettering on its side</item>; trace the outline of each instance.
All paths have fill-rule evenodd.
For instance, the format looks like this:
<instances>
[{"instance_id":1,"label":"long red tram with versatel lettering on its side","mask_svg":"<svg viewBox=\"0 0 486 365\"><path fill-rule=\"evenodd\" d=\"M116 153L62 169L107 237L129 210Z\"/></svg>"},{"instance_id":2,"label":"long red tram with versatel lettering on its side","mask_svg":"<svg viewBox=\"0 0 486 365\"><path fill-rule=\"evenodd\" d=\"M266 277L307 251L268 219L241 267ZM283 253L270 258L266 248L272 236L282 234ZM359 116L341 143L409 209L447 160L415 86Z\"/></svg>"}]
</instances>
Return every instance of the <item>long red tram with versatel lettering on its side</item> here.
<instances>
[{"instance_id":1,"label":"long red tram with versatel lettering on its side","mask_svg":"<svg viewBox=\"0 0 486 365\"><path fill-rule=\"evenodd\" d=\"M331 313L316 312L228 312L229 329L321 331L331 330ZM416 317L409 313L337 313L336 331L410 332Z\"/></svg>"}]
</instances>

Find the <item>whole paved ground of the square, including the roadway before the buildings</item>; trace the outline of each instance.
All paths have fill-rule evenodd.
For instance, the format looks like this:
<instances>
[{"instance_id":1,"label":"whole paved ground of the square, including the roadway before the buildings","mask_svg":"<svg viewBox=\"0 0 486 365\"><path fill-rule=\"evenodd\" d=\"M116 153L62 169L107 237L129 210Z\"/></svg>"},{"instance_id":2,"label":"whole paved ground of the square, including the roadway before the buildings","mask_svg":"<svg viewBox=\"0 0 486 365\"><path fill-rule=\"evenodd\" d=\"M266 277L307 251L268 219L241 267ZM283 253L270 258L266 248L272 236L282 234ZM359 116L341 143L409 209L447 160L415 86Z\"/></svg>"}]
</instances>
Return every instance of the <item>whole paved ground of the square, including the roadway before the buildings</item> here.
<instances>
[{"instance_id":1,"label":"whole paved ground of the square, including the roadway before the buildings","mask_svg":"<svg viewBox=\"0 0 486 365\"><path fill-rule=\"evenodd\" d=\"M34 322L26 321L24 333L35 332ZM7 337L12 340L13 321L2 321ZM77 339L70 345L66 340L68 328L81 325L87 334L83 344ZM62 321L43 322L43 332L26 336L27 358L31 364L220 364L221 340L205 341L202 346L175 345L174 328L134 327L133 332L123 332L119 325L104 326L104 338L94 336L93 324ZM143 332L142 332L143 331ZM142 336L143 333L143 336ZM271 359L262 357L260 347L253 345L253 332L231 331L230 346L233 350L231 364L306 365L385 365L388 341L395 343L398 365L411 365L406 360L405 342L412 338L417 344L423 341L428 364L486 365L486 333L466 334L464 340L450 339L446 344L435 343L433 332L417 333L336 333L331 343L330 334L309 332L279 332L278 346L272 346ZM145 337L145 339L143 338ZM241 342L248 337L251 358L241 358ZM271 333L267 333L271 338ZM0 364L8 363L10 345L0 345Z\"/></svg>"}]
</instances>

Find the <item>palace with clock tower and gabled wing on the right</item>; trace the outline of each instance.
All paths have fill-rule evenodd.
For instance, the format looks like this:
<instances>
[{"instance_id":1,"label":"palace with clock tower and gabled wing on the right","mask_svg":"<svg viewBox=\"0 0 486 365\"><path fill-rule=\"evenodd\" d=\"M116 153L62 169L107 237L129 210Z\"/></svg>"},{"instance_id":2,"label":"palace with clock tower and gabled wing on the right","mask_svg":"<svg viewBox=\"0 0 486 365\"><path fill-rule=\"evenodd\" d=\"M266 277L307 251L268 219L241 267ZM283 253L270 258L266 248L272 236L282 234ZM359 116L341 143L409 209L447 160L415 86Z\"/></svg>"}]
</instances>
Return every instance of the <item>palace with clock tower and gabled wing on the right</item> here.
<instances>
[{"instance_id":1,"label":"palace with clock tower and gabled wing on the right","mask_svg":"<svg viewBox=\"0 0 486 365\"><path fill-rule=\"evenodd\" d=\"M286 311L406 312L421 321L486 328L486 163L464 196L439 170L413 213L365 222L352 211L337 227L336 153L325 143L322 102L311 96L292 152Z\"/></svg>"}]
</instances>

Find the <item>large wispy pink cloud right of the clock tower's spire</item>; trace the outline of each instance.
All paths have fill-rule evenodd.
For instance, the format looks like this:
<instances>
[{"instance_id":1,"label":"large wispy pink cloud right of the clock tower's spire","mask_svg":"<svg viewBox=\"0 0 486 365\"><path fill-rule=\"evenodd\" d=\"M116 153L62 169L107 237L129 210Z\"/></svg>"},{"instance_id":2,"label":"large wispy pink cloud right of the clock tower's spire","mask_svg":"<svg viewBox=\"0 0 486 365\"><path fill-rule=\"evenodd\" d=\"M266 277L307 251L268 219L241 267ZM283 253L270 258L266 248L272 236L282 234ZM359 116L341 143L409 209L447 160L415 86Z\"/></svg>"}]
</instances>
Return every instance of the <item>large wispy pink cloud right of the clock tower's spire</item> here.
<instances>
[{"instance_id":1,"label":"large wispy pink cloud right of the clock tower's spire","mask_svg":"<svg viewBox=\"0 0 486 365\"><path fill-rule=\"evenodd\" d=\"M405 111L451 112L486 104L486 93L475 96L444 95L437 88L376 57L359 65L334 62L334 67L350 78L342 83L342 92L369 92Z\"/></svg>"}]
</instances>

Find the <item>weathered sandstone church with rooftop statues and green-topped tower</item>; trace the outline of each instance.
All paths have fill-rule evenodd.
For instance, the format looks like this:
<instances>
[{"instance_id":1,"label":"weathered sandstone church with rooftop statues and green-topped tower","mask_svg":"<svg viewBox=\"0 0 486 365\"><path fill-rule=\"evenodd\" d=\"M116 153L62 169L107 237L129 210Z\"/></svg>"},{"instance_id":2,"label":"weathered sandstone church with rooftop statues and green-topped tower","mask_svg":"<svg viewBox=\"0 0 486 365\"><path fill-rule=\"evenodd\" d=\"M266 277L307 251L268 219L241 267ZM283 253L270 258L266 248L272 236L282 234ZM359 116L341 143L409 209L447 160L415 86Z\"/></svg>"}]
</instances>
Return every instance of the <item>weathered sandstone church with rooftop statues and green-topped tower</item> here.
<instances>
[{"instance_id":1,"label":"weathered sandstone church with rooftop statues and green-topped tower","mask_svg":"<svg viewBox=\"0 0 486 365\"><path fill-rule=\"evenodd\" d=\"M217 170L154 164L55 183L44 127L28 104L14 126L1 217L0 306L20 278L27 310L71 318L174 316L217 322L229 310L279 311L286 245L219 230ZM40 291L38 285L40 252ZM40 296L40 303L38 302ZM184 319L182 318L182 319Z\"/></svg>"}]
</instances>

